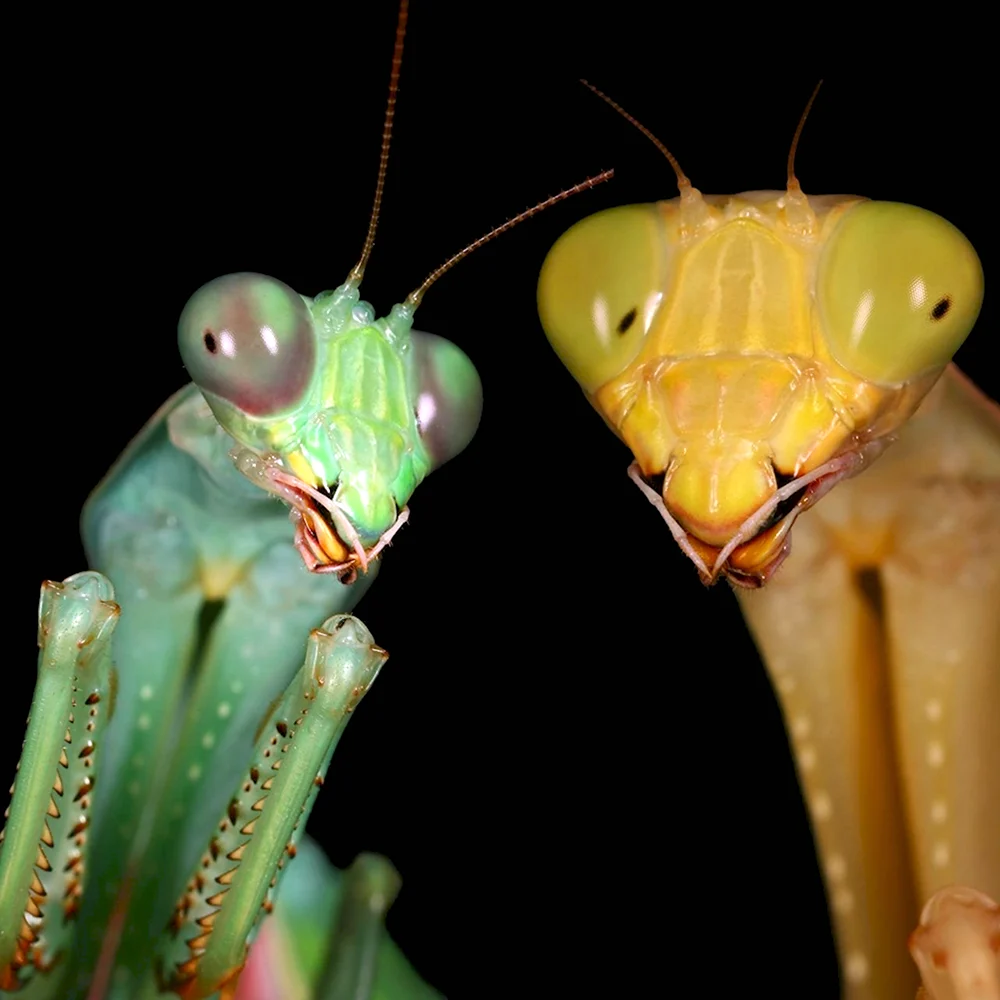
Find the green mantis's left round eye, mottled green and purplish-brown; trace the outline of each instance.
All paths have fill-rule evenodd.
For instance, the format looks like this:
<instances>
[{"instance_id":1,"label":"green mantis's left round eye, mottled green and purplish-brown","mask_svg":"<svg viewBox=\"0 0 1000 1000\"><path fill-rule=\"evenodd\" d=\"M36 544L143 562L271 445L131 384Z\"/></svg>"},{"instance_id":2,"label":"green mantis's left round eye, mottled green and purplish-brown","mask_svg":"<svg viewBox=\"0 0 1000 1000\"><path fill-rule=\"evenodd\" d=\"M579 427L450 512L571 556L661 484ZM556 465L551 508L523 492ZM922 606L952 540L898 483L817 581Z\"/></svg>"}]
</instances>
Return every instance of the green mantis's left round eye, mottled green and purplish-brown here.
<instances>
[{"instance_id":1,"label":"green mantis's left round eye, mottled green and purplish-brown","mask_svg":"<svg viewBox=\"0 0 1000 1000\"><path fill-rule=\"evenodd\" d=\"M262 274L202 286L181 314L178 343L198 387L255 417L300 403L315 369L316 338L302 297Z\"/></svg>"}]
</instances>

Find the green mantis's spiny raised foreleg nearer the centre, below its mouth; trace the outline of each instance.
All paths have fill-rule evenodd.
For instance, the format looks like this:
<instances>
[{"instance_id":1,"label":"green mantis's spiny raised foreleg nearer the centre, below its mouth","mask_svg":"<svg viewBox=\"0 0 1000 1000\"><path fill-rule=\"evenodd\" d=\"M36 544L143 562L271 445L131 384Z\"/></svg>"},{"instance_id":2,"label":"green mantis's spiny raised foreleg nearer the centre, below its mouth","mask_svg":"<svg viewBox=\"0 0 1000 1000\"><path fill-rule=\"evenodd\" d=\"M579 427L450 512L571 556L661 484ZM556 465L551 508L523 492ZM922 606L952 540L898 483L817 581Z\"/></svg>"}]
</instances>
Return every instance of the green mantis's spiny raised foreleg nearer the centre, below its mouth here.
<instances>
[{"instance_id":1,"label":"green mantis's spiny raised foreleg nearer the centre, below its mouth","mask_svg":"<svg viewBox=\"0 0 1000 1000\"><path fill-rule=\"evenodd\" d=\"M263 725L175 907L157 966L163 987L182 1000L234 993L248 942L272 909L336 744L385 659L364 625L347 615L310 635L305 663Z\"/></svg>"}]
</instances>

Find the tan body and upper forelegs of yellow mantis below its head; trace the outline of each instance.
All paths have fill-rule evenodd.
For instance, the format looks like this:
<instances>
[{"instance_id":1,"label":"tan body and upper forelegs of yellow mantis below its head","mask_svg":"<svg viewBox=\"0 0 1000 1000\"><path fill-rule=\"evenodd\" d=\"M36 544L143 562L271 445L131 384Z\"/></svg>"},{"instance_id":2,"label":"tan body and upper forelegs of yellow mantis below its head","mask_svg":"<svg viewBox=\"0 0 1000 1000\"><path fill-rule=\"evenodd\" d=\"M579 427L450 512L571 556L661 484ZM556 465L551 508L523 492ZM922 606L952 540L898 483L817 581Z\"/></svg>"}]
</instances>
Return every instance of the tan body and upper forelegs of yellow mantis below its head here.
<instances>
[{"instance_id":1,"label":"tan body and upper forelegs of yellow mantis below its head","mask_svg":"<svg viewBox=\"0 0 1000 1000\"><path fill-rule=\"evenodd\" d=\"M995 405L950 369L739 599L810 803L846 996L910 1000L896 970L918 901L954 881L1000 892Z\"/></svg>"}]
</instances>

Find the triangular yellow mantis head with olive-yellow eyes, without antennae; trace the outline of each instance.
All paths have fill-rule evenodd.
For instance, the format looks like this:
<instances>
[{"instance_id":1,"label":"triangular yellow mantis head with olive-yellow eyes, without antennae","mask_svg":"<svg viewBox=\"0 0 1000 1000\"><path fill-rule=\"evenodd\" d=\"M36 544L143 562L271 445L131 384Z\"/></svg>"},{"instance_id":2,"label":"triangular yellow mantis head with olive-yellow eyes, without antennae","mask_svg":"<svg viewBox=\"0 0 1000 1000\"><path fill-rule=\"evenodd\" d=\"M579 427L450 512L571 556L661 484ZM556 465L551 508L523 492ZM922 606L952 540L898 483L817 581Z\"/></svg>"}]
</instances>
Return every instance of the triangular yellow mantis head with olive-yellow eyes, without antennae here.
<instances>
[{"instance_id":1,"label":"triangular yellow mantis head with olive-yellow eyes, without antennae","mask_svg":"<svg viewBox=\"0 0 1000 1000\"><path fill-rule=\"evenodd\" d=\"M757 587L795 518L892 440L983 274L920 208L757 191L610 209L545 260L545 332L705 582Z\"/></svg>"}]
</instances>

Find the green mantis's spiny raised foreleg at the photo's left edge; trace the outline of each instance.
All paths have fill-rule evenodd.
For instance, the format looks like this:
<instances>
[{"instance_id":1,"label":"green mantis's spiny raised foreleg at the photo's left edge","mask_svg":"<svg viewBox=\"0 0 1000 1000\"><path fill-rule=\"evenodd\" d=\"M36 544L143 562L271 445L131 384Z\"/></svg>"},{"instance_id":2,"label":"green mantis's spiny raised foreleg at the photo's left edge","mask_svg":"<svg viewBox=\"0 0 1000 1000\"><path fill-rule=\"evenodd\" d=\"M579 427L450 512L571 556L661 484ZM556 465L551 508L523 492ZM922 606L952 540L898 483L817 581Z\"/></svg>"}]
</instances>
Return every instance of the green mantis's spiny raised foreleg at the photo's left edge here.
<instances>
[{"instance_id":1,"label":"green mantis's spiny raised foreleg at the photo's left edge","mask_svg":"<svg viewBox=\"0 0 1000 1000\"><path fill-rule=\"evenodd\" d=\"M65 958L88 880L92 792L114 711L114 596L99 573L42 585L38 683L0 833L3 990Z\"/></svg>"}]
</instances>

